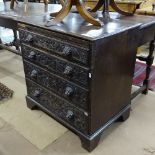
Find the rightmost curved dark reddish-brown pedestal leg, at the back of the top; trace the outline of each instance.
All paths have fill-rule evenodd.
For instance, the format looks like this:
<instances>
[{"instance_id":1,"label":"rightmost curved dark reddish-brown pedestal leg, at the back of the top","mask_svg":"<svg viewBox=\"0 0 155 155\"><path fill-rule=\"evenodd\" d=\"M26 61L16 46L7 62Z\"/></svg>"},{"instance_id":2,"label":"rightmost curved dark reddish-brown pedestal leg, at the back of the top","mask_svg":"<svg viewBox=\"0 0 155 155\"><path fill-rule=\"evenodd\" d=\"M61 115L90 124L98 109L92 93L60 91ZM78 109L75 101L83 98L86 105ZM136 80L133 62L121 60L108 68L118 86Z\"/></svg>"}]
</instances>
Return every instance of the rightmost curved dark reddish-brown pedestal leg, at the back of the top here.
<instances>
[{"instance_id":1,"label":"rightmost curved dark reddish-brown pedestal leg, at the back of the top","mask_svg":"<svg viewBox=\"0 0 155 155\"><path fill-rule=\"evenodd\" d=\"M134 14L134 12L130 13L130 12L126 12L126 11L123 11L121 10L117 4L115 3L114 0L110 0L110 6L118 13L122 14L122 15L125 15L125 16L132 16Z\"/></svg>"}]
</instances>

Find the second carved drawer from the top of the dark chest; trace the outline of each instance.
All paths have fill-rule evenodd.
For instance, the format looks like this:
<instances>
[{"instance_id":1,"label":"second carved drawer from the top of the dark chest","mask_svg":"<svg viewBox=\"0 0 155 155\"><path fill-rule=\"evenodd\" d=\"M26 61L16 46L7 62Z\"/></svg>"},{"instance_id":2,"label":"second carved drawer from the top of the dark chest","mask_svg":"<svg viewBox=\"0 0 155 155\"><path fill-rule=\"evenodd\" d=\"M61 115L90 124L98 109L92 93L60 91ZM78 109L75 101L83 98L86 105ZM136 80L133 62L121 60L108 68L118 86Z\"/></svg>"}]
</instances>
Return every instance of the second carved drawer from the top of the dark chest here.
<instances>
[{"instance_id":1,"label":"second carved drawer from the top of the dark chest","mask_svg":"<svg viewBox=\"0 0 155 155\"><path fill-rule=\"evenodd\" d=\"M24 59L42 67L46 67L53 73L63 76L64 78L80 84L81 86L88 87L88 68L75 65L60 59L57 56L50 56L25 44L22 44L22 55Z\"/></svg>"}]
</instances>

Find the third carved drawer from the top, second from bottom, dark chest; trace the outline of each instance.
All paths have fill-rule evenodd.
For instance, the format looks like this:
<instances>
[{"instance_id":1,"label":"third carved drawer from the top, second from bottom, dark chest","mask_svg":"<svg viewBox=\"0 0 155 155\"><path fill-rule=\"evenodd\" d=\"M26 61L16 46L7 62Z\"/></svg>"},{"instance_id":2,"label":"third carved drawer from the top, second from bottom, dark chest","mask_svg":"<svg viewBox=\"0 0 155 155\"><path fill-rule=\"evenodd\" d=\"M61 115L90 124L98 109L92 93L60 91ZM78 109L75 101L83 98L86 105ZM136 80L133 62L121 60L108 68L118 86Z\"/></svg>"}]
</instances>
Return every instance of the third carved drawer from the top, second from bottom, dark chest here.
<instances>
[{"instance_id":1,"label":"third carved drawer from the top, second from bottom, dark chest","mask_svg":"<svg viewBox=\"0 0 155 155\"><path fill-rule=\"evenodd\" d=\"M24 69L26 77L43 85L47 89L53 91L59 96L67 99L76 106L87 110L88 106L88 91L61 79L49 72L41 69L38 66L32 65L24 61Z\"/></svg>"}]
</instances>

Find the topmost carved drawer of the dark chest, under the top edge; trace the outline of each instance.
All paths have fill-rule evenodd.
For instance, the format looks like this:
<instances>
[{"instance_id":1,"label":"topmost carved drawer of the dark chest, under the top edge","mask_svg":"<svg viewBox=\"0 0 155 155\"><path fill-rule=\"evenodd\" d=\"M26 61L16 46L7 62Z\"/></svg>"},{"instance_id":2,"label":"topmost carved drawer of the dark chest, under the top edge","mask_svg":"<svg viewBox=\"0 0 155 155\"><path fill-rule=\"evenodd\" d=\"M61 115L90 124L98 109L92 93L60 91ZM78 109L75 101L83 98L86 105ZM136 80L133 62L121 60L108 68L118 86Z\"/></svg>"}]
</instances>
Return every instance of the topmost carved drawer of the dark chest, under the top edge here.
<instances>
[{"instance_id":1,"label":"topmost carved drawer of the dark chest, under the top edge","mask_svg":"<svg viewBox=\"0 0 155 155\"><path fill-rule=\"evenodd\" d=\"M76 45L62 42L50 37L45 37L38 33L19 29L20 39L23 43L31 46L44 49L50 54L58 54L65 59L77 61L88 65L89 49L79 47Z\"/></svg>"}]
</instances>

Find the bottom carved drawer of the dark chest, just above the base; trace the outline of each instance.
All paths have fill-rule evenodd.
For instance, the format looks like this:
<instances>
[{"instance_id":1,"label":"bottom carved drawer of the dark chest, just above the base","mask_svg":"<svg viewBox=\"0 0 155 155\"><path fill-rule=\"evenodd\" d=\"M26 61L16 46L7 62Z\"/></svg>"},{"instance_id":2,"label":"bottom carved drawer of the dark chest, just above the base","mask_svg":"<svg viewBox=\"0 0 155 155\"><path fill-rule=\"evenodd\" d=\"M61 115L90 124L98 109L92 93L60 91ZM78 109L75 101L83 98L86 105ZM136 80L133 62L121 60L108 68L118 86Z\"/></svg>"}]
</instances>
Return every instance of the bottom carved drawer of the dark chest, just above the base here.
<instances>
[{"instance_id":1,"label":"bottom carved drawer of the dark chest, just above the base","mask_svg":"<svg viewBox=\"0 0 155 155\"><path fill-rule=\"evenodd\" d=\"M51 111L54 116L63 119L81 132L87 133L88 113L75 108L28 79L26 83L28 96Z\"/></svg>"}]
</instances>

